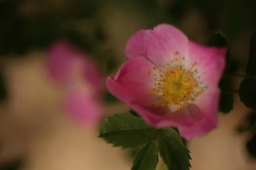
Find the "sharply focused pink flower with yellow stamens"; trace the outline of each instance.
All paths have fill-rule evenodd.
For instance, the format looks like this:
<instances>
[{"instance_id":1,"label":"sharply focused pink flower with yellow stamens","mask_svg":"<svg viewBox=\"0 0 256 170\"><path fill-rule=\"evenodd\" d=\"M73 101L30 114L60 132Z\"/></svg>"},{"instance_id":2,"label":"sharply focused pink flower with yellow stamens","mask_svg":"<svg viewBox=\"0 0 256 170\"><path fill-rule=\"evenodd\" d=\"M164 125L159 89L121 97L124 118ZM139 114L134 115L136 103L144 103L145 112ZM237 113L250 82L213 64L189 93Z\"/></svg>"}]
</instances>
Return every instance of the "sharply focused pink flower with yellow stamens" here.
<instances>
[{"instance_id":1,"label":"sharply focused pink flower with yellow stamens","mask_svg":"<svg viewBox=\"0 0 256 170\"><path fill-rule=\"evenodd\" d=\"M129 58L107 79L108 90L154 127L178 127L185 139L217 127L227 48L205 47L167 24L128 40Z\"/></svg>"}]
</instances>

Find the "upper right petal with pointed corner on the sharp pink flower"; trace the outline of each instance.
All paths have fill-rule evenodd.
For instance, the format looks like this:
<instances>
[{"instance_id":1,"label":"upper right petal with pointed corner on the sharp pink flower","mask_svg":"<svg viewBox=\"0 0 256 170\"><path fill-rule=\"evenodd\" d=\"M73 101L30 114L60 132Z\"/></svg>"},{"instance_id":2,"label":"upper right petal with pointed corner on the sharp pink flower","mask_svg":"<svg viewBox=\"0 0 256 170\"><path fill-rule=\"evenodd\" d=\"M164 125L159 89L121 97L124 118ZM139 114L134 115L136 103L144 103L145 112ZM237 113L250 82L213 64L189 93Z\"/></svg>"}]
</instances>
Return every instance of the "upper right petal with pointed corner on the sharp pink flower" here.
<instances>
[{"instance_id":1,"label":"upper right petal with pointed corner on the sharp pink flower","mask_svg":"<svg viewBox=\"0 0 256 170\"><path fill-rule=\"evenodd\" d=\"M201 81L208 87L218 87L226 65L227 48L206 47L195 42L189 42L186 62L197 63L196 69Z\"/></svg>"}]
</instances>

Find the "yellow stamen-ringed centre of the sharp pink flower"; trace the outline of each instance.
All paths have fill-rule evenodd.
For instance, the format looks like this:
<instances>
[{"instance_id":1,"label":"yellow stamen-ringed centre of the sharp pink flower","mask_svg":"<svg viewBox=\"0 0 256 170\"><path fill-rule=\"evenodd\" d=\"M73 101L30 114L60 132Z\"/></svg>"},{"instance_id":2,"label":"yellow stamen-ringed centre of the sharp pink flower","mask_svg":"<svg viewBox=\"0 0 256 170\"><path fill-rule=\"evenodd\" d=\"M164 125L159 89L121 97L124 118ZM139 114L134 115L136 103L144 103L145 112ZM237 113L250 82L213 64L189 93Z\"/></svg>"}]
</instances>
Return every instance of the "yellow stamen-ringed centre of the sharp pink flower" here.
<instances>
[{"instance_id":1,"label":"yellow stamen-ringed centre of the sharp pink flower","mask_svg":"<svg viewBox=\"0 0 256 170\"><path fill-rule=\"evenodd\" d=\"M153 67L153 72L156 72L154 74L148 71L148 75L155 77L155 88L148 94L157 94L157 99L163 108L169 107L172 111L179 111L181 107L189 106L195 101L207 86L202 86L203 83L199 81L200 77L197 76L198 72L195 69L196 63L185 67L185 57L181 58L178 52L174 52L173 55L178 55L179 58L171 60L162 68Z\"/></svg>"}]
</instances>

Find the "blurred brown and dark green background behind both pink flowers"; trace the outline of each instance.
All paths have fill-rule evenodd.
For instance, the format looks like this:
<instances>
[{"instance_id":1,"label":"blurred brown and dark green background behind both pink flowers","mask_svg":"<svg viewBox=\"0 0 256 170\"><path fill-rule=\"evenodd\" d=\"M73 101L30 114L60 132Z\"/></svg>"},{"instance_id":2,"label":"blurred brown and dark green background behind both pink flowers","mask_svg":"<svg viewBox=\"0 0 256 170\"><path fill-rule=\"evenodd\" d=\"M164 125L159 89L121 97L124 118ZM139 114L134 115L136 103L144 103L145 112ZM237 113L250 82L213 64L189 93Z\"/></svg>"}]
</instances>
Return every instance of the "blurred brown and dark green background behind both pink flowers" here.
<instances>
[{"instance_id":1,"label":"blurred brown and dark green background behind both pink flowers","mask_svg":"<svg viewBox=\"0 0 256 170\"><path fill-rule=\"evenodd\" d=\"M236 73L245 74L255 8L252 0L0 0L0 170L131 169L128 150L105 144L97 128L82 128L61 110L63 91L45 64L58 38L93 56L106 78L127 60L125 44L140 29L170 23L202 44L220 29L239 63ZM187 141L191 170L256 169L254 133L236 130L250 123L251 111L234 99L216 130ZM103 117L128 111L107 89L104 104ZM158 170L166 170L161 160Z\"/></svg>"}]
</instances>

